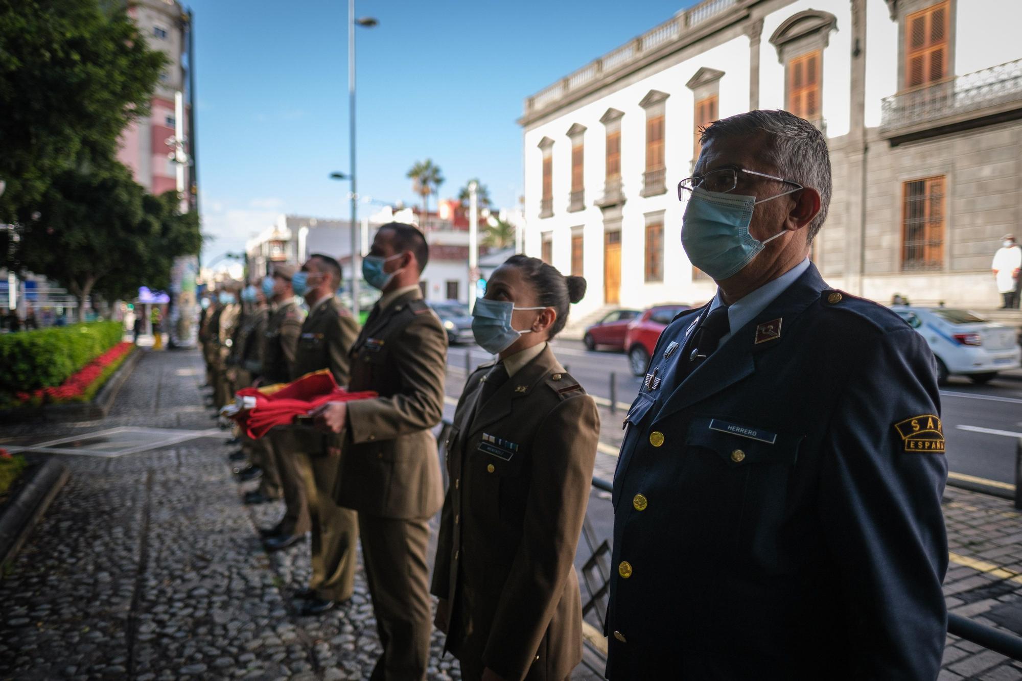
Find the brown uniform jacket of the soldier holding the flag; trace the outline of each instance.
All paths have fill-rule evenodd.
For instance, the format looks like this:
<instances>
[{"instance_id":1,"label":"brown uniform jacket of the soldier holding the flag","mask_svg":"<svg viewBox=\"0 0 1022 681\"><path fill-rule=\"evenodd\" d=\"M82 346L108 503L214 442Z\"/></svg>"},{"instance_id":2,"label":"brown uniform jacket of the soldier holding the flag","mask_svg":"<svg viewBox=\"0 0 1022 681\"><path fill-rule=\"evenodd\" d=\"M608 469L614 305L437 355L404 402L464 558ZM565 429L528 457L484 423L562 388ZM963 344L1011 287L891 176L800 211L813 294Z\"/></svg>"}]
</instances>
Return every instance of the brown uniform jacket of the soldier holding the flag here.
<instances>
[{"instance_id":1,"label":"brown uniform jacket of the soldier holding the flag","mask_svg":"<svg viewBox=\"0 0 1022 681\"><path fill-rule=\"evenodd\" d=\"M379 397L347 403L334 498L360 513L430 517L444 503L436 439L444 415L447 333L411 291L374 308L352 348L349 390Z\"/></svg>"}]
</instances>

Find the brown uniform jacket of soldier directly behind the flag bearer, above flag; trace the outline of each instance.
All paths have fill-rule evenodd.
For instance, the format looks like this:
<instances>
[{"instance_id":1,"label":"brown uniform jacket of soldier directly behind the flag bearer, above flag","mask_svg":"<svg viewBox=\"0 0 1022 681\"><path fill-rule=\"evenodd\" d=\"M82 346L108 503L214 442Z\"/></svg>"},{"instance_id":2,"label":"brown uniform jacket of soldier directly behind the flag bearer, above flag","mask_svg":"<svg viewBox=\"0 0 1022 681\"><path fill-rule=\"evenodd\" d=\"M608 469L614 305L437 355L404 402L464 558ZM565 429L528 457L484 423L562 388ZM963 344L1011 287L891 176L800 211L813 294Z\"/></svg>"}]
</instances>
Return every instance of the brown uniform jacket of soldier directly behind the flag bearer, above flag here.
<instances>
[{"instance_id":1,"label":"brown uniform jacket of soldier directly behind the flag bearer, above flag","mask_svg":"<svg viewBox=\"0 0 1022 681\"><path fill-rule=\"evenodd\" d=\"M291 380L310 371L330 369L338 385L347 384L347 351L359 334L359 323L336 297L316 308L301 324Z\"/></svg>"}]
</instances>

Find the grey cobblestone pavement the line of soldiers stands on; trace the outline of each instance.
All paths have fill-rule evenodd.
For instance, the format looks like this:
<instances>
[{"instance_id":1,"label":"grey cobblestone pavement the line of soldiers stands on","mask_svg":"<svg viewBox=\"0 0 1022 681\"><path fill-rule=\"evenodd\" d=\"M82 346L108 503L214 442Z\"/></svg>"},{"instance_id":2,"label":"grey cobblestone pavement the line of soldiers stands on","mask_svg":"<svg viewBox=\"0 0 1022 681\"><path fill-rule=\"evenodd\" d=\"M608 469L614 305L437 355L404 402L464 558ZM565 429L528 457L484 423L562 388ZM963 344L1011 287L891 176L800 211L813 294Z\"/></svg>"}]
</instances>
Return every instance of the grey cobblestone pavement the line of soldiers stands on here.
<instances>
[{"instance_id":1,"label":"grey cobblestone pavement the line of soldiers stands on","mask_svg":"<svg viewBox=\"0 0 1022 681\"><path fill-rule=\"evenodd\" d=\"M271 525L280 506L241 504L251 484L231 475L233 448L211 430L202 378L197 353L147 353L106 419L0 430L7 446L118 426L203 436L117 457L52 455L72 476L4 566L0 679L368 678L379 648L361 570L347 607L295 615L290 597L308 580L308 547L262 549L256 528ZM463 381L452 372L450 398ZM623 415L602 412L596 474L609 480ZM610 506L599 493L592 498L590 519L601 534ZM1022 514L1004 499L954 488L944 512L949 608L1022 634ZM429 678L459 679L442 644L434 635ZM574 678L598 677L580 668ZM948 637L939 678L1022 679L1022 663Z\"/></svg>"}]
</instances>

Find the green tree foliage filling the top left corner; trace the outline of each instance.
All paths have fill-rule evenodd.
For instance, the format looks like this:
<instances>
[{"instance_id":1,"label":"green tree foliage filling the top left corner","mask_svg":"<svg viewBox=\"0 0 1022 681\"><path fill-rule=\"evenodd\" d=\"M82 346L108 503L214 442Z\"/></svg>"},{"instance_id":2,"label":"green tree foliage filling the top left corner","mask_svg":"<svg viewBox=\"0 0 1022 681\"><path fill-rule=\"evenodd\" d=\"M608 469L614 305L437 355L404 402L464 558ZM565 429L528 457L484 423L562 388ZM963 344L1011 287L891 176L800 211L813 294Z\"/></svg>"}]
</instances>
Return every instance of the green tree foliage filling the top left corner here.
<instances>
[{"instance_id":1,"label":"green tree foliage filling the top left corner","mask_svg":"<svg viewBox=\"0 0 1022 681\"><path fill-rule=\"evenodd\" d=\"M148 114L167 58L118 4L0 0L0 223Z\"/></svg>"}]
</instances>

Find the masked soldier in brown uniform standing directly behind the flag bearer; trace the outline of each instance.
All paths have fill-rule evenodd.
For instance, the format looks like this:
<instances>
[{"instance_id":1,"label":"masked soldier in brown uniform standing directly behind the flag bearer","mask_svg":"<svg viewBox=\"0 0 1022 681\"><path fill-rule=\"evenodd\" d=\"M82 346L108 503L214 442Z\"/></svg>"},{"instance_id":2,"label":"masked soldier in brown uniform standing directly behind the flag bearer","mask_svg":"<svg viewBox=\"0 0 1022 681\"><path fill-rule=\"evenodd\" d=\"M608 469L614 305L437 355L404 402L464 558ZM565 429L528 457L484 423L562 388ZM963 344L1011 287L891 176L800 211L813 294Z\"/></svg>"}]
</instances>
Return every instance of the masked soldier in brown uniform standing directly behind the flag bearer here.
<instances>
[{"instance_id":1,"label":"masked soldier in brown uniform standing directly behind the flag bearer","mask_svg":"<svg viewBox=\"0 0 1022 681\"><path fill-rule=\"evenodd\" d=\"M340 285L340 265L329 256L310 256L291 283L309 305L291 379L329 369L338 385L346 385L347 353L359 334L359 324L334 296ZM340 459L328 451L326 436L309 427L293 428L291 436L294 450L285 456L298 461L312 520L313 576L309 589L299 594L300 611L320 615L352 597L358 520L354 511L338 506L333 499Z\"/></svg>"}]
</instances>

